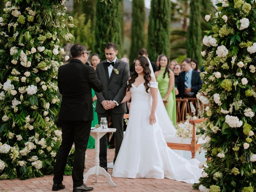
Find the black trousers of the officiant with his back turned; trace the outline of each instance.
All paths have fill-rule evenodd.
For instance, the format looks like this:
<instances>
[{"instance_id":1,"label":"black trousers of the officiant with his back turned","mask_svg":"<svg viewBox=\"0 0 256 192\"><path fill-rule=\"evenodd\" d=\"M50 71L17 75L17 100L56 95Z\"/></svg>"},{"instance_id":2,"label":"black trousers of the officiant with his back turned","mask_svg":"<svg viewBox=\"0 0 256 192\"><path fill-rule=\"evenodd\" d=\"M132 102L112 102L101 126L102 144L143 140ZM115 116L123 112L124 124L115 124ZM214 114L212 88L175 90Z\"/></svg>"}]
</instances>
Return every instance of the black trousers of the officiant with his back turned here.
<instances>
[{"instance_id":1,"label":"black trousers of the officiant with his back turned","mask_svg":"<svg viewBox=\"0 0 256 192\"><path fill-rule=\"evenodd\" d=\"M56 155L54 167L54 184L60 184L67 163L68 154L75 144L74 163L72 170L73 186L81 186L84 182L85 151L91 131L92 121L62 121L62 142Z\"/></svg>"}]
</instances>

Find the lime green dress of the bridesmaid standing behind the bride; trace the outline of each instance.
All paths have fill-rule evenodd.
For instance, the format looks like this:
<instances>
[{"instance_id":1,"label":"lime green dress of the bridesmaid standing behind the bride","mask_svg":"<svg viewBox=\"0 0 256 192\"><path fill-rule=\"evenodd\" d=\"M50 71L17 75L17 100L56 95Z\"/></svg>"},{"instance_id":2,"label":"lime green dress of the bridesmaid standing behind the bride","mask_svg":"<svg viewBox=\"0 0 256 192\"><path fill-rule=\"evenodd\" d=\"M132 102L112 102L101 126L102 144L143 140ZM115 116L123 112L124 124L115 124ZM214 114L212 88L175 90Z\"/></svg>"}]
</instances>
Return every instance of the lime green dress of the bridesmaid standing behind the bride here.
<instances>
[{"instance_id":1,"label":"lime green dress of the bridesmaid standing behind the bride","mask_svg":"<svg viewBox=\"0 0 256 192\"><path fill-rule=\"evenodd\" d=\"M158 82L158 89L161 94L161 97L164 98L166 95L168 88L169 88L169 77L168 74L165 74L164 76L164 71L160 73L156 81ZM173 82L174 84L174 82ZM176 98L175 98L175 86L173 86L172 92L170 93L169 97L167 98L167 104L166 104L166 111L168 113L168 116L170 120L172 121L172 124L175 126L176 125Z\"/></svg>"}]
</instances>

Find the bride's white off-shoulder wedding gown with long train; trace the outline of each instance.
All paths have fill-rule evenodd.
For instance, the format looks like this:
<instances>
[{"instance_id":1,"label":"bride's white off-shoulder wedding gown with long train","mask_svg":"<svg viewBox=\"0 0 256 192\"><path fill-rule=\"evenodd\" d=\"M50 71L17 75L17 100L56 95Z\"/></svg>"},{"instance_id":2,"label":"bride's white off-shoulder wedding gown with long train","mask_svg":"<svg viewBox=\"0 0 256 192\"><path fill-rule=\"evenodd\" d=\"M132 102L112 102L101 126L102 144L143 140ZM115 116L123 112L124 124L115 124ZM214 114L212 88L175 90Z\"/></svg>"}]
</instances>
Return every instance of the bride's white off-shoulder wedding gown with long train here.
<instances>
[{"instance_id":1,"label":"bride's white off-shoulder wedding gown with long train","mask_svg":"<svg viewBox=\"0 0 256 192\"><path fill-rule=\"evenodd\" d=\"M150 82L150 87L158 88L157 82ZM196 183L202 175L198 161L186 160L171 150L164 140L163 126L175 133L174 126L164 125L161 112L156 113L156 123L149 124L152 97L146 92L144 84L130 88L129 121L122 141L112 176L122 178L164 177L186 183ZM158 100L161 99L158 96ZM164 112L162 112L164 115Z\"/></svg>"}]
</instances>

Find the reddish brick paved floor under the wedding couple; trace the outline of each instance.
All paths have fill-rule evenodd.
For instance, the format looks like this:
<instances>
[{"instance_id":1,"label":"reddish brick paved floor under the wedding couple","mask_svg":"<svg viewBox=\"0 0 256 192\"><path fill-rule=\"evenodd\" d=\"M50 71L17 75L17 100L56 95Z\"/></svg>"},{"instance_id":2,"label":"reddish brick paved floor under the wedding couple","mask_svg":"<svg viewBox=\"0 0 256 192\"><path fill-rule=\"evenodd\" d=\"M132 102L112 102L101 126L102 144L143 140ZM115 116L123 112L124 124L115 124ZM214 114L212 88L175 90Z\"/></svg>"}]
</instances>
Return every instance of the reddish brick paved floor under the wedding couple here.
<instances>
[{"instance_id":1,"label":"reddish brick paved floor under the wedding couple","mask_svg":"<svg viewBox=\"0 0 256 192\"><path fill-rule=\"evenodd\" d=\"M94 166L94 149L86 151L86 170ZM114 150L108 149L108 161L112 162L114 158ZM108 173L112 174L112 169L108 169ZM0 192L49 192L52 191L52 177L44 176L43 178L34 178L28 180L0 180ZM89 176L87 185L94 187L95 192L198 192L193 190L191 184L178 182L170 179L125 179L115 178L112 180L116 183L116 187L110 187L104 176L98 176L97 183L94 183L94 176ZM72 192L73 183L71 176L64 176L66 186L60 192Z\"/></svg>"}]
</instances>

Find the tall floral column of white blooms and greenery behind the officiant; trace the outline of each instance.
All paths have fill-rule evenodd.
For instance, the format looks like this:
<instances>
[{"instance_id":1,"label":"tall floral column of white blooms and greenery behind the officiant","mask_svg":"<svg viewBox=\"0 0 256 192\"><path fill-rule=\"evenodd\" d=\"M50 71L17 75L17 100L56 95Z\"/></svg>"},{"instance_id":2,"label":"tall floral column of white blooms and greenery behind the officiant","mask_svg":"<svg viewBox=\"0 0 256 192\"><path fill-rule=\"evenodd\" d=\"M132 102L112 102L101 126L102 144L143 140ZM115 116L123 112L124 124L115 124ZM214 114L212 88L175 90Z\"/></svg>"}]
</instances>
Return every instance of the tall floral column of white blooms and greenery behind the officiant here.
<instances>
[{"instance_id":1,"label":"tall floral column of white blooms and greenery behind the officiant","mask_svg":"<svg viewBox=\"0 0 256 192\"><path fill-rule=\"evenodd\" d=\"M0 179L52 174L61 132L57 73L71 40L64 1L10 0L0 26ZM70 162L68 162L70 165Z\"/></svg>"}]
</instances>

